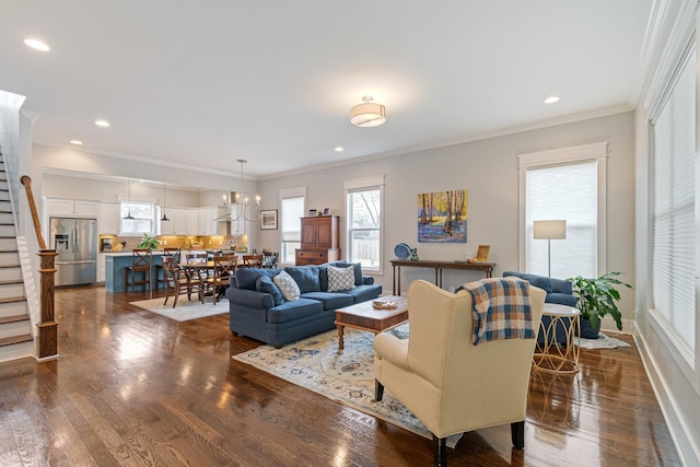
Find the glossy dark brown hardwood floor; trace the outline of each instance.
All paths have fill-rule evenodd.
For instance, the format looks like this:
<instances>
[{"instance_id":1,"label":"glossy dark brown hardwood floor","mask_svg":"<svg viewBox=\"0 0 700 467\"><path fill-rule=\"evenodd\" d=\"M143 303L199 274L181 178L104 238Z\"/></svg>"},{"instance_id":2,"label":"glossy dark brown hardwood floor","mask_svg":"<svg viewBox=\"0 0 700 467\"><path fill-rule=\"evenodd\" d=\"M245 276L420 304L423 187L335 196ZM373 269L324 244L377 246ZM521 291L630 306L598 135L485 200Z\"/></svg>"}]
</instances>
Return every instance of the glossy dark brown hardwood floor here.
<instances>
[{"instance_id":1,"label":"glossy dark brown hardwood floor","mask_svg":"<svg viewBox=\"0 0 700 467\"><path fill-rule=\"evenodd\" d=\"M177 323L104 288L56 294L56 361L0 364L0 466L420 466L431 441L231 359L226 314ZM466 433L452 466L675 466L632 343L534 373L525 450L510 425Z\"/></svg>"}]
</instances>

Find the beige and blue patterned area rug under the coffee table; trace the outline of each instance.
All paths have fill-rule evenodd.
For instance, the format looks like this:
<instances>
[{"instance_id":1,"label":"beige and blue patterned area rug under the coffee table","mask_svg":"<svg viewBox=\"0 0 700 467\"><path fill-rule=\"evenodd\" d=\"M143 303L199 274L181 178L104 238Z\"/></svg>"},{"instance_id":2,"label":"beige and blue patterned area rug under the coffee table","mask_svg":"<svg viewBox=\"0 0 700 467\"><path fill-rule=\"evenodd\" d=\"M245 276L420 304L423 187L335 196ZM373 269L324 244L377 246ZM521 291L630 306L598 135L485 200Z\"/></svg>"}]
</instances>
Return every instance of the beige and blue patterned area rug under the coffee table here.
<instances>
[{"instance_id":1,"label":"beige and blue patterned area rug under the coffee table","mask_svg":"<svg viewBox=\"0 0 700 467\"><path fill-rule=\"evenodd\" d=\"M407 338L408 325L389 332ZM381 402L374 400L373 340L372 332L346 328L340 352L338 332L330 330L281 349L261 346L231 358L432 440L430 431L388 390ZM447 445L454 447L460 436L450 436Z\"/></svg>"}]
</instances>

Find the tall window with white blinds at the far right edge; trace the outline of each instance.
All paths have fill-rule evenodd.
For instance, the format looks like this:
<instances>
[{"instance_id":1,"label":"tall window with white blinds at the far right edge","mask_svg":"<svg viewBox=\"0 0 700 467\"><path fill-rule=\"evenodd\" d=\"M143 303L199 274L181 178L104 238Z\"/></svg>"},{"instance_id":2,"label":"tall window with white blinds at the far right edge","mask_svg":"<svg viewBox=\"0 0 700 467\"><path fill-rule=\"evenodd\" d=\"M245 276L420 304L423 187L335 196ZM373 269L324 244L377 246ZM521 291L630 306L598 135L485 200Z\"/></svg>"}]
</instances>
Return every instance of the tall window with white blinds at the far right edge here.
<instances>
[{"instance_id":1,"label":"tall window with white blinds at the far right edge","mask_svg":"<svg viewBox=\"0 0 700 467\"><path fill-rule=\"evenodd\" d=\"M652 116L651 302L680 354L695 364L696 347L696 59L681 61Z\"/></svg>"}]
</instances>

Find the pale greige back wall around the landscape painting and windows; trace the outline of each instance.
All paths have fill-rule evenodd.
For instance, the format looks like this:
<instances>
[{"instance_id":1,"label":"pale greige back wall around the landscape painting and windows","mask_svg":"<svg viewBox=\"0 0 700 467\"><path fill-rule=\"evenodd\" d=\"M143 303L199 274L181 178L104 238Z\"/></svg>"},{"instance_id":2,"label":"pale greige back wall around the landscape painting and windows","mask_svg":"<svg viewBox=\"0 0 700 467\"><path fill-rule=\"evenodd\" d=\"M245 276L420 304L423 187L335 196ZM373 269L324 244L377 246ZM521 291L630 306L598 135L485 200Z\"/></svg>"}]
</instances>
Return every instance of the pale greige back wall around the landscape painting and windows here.
<instances>
[{"instance_id":1,"label":"pale greige back wall around the landscape painting and windows","mask_svg":"<svg viewBox=\"0 0 700 467\"><path fill-rule=\"evenodd\" d=\"M371 130L369 130L371 131ZM569 145L608 141L607 269L625 272L634 283L634 121L633 113L524 131L481 141L420 151L370 162L327 168L260 183L262 209L279 209L279 190L307 187L307 209L328 207L341 214L345 230L342 182L385 175L384 271L375 280L392 291L389 260L394 246L405 242L418 247L421 259L460 259L478 245L491 245L494 276L517 270L518 189L517 154ZM417 242L416 206L420 192L468 190L467 244ZM279 230L261 231L259 245L279 249ZM341 237L345 249L345 235ZM430 269L404 268L401 290L415 279L432 281ZM481 279L480 272L444 271L443 285L454 288ZM623 291L621 308L627 320L634 310L631 292ZM607 326L606 326L607 325ZM604 323L611 328L612 322ZM631 331L631 327L627 328Z\"/></svg>"}]
</instances>

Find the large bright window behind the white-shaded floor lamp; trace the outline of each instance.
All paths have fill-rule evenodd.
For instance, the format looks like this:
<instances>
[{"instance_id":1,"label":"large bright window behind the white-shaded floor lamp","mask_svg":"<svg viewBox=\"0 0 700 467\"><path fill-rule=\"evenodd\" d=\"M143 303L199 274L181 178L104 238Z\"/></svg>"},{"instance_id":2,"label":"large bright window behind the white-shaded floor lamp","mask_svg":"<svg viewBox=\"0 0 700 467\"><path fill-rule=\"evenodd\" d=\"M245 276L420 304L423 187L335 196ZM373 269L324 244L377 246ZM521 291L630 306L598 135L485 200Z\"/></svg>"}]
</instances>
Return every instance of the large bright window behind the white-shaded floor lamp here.
<instances>
[{"instance_id":1,"label":"large bright window behind the white-shaded floor lamp","mask_svg":"<svg viewBox=\"0 0 700 467\"><path fill-rule=\"evenodd\" d=\"M605 271L607 143L518 155L521 269L565 279ZM534 237L534 221L565 220L567 238ZM550 254L551 248L551 254Z\"/></svg>"}]
</instances>

